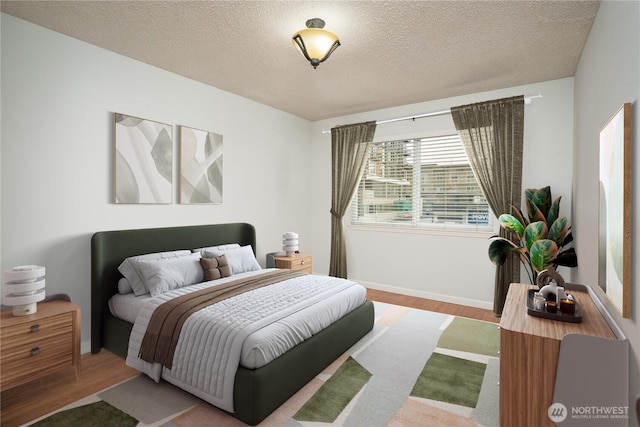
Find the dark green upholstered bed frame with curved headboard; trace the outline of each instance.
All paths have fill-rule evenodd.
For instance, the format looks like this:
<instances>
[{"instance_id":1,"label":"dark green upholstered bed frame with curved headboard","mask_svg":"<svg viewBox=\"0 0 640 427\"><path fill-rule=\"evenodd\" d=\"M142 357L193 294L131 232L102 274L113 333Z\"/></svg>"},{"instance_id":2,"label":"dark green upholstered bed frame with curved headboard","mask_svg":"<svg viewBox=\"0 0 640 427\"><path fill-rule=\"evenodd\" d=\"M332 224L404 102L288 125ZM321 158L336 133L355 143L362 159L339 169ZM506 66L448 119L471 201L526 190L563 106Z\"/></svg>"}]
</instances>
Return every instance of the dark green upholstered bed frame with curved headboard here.
<instances>
[{"instance_id":1,"label":"dark green upholstered bed frame with curved headboard","mask_svg":"<svg viewBox=\"0 0 640 427\"><path fill-rule=\"evenodd\" d=\"M91 352L105 348L127 357L133 324L114 317L109 299L118 293L118 266L128 257L227 243L250 245L251 224L231 223L98 232L91 239ZM256 425L373 327L373 304L365 301L319 333L255 369L239 366L233 387L233 415Z\"/></svg>"}]
</instances>

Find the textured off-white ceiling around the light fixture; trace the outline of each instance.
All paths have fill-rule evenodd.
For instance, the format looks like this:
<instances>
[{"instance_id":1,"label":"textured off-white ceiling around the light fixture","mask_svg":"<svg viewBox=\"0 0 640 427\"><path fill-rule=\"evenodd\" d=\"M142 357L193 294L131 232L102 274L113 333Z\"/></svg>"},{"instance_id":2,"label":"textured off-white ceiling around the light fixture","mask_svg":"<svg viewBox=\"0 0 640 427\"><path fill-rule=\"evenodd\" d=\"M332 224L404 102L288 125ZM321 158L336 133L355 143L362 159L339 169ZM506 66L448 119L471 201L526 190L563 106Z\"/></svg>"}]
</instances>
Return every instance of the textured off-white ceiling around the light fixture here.
<instances>
[{"instance_id":1,"label":"textured off-white ceiling around the light fixture","mask_svg":"<svg viewBox=\"0 0 640 427\"><path fill-rule=\"evenodd\" d=\"M573 76L599 1L5 1L2 12L309 120ZM326 21L317 69L291 36Z\"/></svg>"}]
</instances>

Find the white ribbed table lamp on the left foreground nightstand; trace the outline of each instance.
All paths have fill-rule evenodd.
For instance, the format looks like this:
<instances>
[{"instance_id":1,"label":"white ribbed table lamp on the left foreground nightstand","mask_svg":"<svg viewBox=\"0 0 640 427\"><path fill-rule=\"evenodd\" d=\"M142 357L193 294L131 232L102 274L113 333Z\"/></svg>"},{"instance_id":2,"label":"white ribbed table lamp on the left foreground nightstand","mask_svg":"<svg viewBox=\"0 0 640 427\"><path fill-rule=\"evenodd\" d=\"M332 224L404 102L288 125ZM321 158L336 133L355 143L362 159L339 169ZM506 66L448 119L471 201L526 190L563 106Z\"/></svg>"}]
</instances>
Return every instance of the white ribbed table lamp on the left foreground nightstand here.
<instances>
[{"instance_id":1,"label":"white ribbed table lamp on the left foreground nightstand","mask_svg":"<svg viewBox=\"0 0 640 427\"><path fill-rule=\"evenodd\" d=\"M2 303L13 307L14 316L26 316L38 311L37 303L45 297L45 268L21 265L4 272Z\"/></svg>"}]
</instances>

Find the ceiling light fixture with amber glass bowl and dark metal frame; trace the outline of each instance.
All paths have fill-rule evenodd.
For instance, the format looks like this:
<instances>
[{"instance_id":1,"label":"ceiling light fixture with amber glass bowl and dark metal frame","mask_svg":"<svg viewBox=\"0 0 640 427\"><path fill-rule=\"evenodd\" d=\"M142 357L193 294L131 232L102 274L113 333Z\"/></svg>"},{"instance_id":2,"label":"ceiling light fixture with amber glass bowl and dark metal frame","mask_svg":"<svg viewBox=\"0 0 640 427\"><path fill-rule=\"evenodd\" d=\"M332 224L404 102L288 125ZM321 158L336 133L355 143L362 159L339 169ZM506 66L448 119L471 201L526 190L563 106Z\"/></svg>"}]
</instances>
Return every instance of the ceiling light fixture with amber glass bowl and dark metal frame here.
<instances>
[{"instance_id":1,"label":"ceiling light fixture with amber glass bowl and dark metal frame","mask_svg":"<svg viewBox=\"0 0 640 427\"><path fill-rule=\"evenodd\" d=\"M320 18L309 19L307 28L293 35L293 43L313 68L317 68L321 62L326 61L329 55L340 46L338 36L325 30L324 21Z\"/></svg>"}]
</instances>

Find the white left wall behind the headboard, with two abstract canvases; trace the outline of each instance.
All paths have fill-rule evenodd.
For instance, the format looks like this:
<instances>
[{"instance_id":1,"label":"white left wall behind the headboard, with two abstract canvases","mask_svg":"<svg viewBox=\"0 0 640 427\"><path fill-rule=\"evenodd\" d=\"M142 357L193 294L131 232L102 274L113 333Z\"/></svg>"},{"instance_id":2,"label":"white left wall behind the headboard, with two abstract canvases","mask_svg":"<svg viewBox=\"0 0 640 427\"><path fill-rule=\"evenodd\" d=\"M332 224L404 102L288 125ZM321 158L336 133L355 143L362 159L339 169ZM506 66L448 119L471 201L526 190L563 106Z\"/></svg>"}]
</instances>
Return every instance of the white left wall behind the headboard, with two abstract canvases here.
<instances>
[{"instance_id":1,"label":"white left wall behind the headboard, with two abstract canvases","mask_svg":"<svg viewBox=\"0 0 640 427\"><path fill-rule=\"evenodd\" d=\"M262 265L284 231L310 249L307 120L6 14L1 23L2 270L44 265L47 293L82 308L84 350L96 231L243 221ZM223 203L113 204L114 112L222 134Z\"/></svg>"}]
</instances>

